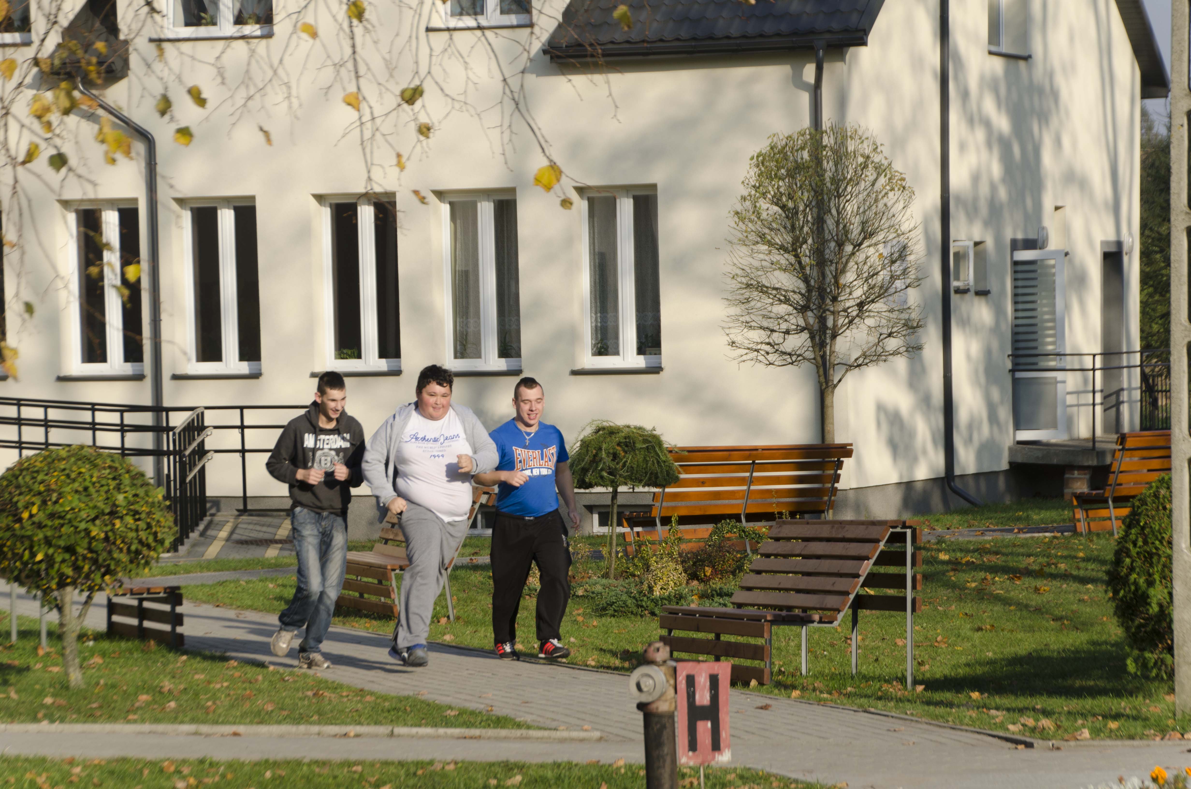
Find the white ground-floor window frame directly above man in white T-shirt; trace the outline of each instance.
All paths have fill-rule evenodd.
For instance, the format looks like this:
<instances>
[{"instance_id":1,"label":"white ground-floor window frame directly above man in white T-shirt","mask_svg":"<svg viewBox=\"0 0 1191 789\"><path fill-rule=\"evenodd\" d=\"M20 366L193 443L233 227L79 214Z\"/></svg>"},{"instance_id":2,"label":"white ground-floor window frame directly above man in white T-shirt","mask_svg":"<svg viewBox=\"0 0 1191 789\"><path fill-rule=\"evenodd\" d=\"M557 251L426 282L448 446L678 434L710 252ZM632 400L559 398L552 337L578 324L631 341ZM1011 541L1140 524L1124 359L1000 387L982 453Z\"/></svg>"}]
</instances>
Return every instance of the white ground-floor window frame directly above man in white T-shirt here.
<instances>
[{"instance_id":1,"label":"white ground-floor window frame directly above man in white T-shirt","mask_svg":"<svg viewBox=\"0 0 1191 789\"><path fill-rule=\"evenodd\" d=\"M522 360L500 359L497 347L497 256L495 256L495 219L493 217L493 200L516 200L516 191L497 192L450 192L442 195L443 206L443 294L444 315L447 316L447 359L448 366L454 371L520 371ZM456 200L474 200L479 203L476 216L479 222L480 238L480 359L455 359L455 307L454 293L451 292L451 260L450 260L450 204ZM518 223L518 235L520 225ZM520 241L518 238L518 241ZM518 243L518 250L520 244ZM519 256L519 251L518 251ZM518 260L518 269L520 261ZM518 271L518 281L520 272ZM519 291L518 291L519 292ZM518 317L520 305L518 305ZM524 353L524 349L522 349Z\"/></svg>"}]
</instances>

